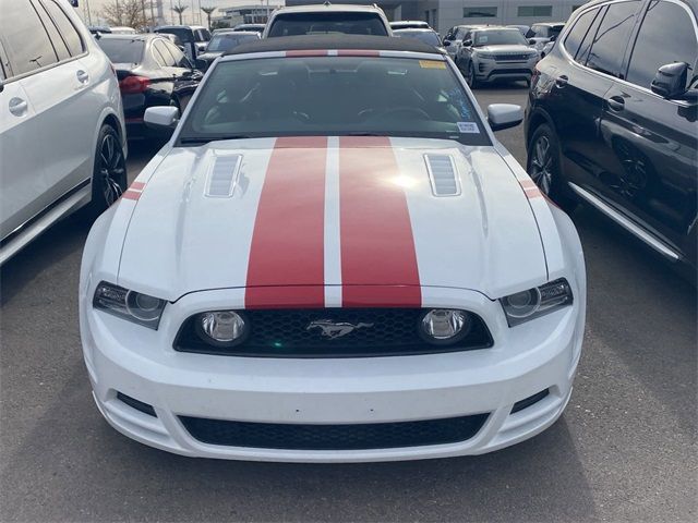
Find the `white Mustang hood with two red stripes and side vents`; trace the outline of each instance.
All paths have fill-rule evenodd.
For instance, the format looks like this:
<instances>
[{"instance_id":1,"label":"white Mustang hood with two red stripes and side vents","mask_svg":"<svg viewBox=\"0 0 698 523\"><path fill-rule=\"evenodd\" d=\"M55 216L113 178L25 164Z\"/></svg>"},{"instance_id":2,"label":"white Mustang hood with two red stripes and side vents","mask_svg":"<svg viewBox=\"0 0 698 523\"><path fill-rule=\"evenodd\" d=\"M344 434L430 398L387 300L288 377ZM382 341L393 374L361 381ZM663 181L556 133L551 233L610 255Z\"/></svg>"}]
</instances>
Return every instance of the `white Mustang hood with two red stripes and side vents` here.
<instances>
[{"instance_id":1,"label":"white Mustang hood with two red stripes and side vents","mask_svg":"<svg viewBox=\"0 0 698 523\"><path fill-rule=\"evenodd\" d=\"M253 138L164 154L119 204L134 206L123 287L168 300L250 285L442 287L494 299L546 278L531 205L494 147Z\"/></svg>"}]
</instances>

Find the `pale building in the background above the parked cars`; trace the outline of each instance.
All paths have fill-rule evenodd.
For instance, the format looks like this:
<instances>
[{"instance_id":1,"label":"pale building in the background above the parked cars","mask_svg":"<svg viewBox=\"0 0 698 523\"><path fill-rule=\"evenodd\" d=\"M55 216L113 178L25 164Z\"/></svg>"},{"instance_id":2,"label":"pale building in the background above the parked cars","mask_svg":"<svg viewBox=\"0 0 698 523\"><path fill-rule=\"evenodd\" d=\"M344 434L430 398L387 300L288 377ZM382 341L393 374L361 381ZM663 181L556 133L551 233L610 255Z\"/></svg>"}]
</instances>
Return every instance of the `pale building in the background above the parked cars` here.
<instances>
[{"instance_id":1,"label":"pale building in the background above the parked cars","mask_svg":"<svg viewBox=\"0 0 698 523\"><path fill-rule=\"evenodd\" d=\"M337 0L334 3L376 3L388 20L423 20L442 35L454 25L532 25L565 22L588 0ZM322 0L286 0L287 5L323 3Z\"/></svg>"}]
</instances>

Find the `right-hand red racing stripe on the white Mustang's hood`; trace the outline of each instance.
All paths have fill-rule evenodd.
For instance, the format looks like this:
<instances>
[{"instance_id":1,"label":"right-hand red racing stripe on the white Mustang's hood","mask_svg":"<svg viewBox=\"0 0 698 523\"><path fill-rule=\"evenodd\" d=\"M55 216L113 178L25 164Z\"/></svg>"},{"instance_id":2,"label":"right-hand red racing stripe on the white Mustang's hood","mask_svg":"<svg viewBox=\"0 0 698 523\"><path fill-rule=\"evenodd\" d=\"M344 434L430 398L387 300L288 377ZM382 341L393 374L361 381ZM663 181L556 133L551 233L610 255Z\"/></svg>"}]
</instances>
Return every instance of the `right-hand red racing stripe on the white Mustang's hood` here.
<instances>
[{"instance_id":1,"label":"right-hand red racing stripe on the white Mustang's hood","mask_svg":"<svg viewBox=\"0 0 698 523\"><path fill-rule=\"evenodd\" d=\"M342 306L421 307L414 239L387 137L339 138Z\"/></svg>"}]
</instances>

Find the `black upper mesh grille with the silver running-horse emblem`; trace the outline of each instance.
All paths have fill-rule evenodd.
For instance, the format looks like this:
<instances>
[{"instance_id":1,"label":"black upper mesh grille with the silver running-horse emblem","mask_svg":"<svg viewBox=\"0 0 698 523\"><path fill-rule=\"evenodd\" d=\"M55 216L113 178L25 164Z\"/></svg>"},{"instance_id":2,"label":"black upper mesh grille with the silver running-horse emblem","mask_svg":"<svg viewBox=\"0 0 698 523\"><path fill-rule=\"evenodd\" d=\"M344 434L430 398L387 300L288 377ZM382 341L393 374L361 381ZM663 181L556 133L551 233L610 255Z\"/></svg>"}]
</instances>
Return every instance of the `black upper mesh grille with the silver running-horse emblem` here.
<instances>
[{"instance_id":1,"label":"black upper mesh grille with the silver running-horse emblem","mask_svg":"<svg viewBox=\"0 0 698 523\"><path fill-rule=\"evenodd\" d=\"M262 357L366 357L426 354L485 349L492 337L484 321L469 313L471 328L452 345L431 344L420 336L421 308L316 308L241 311L250 328L246 339L232 348L214 346L195 328L196 316L180 329L174 350L205 354ZM357 326L350 332L329 338L325 329L310 325L332 320Z\"/></svg>"}]
</instances>

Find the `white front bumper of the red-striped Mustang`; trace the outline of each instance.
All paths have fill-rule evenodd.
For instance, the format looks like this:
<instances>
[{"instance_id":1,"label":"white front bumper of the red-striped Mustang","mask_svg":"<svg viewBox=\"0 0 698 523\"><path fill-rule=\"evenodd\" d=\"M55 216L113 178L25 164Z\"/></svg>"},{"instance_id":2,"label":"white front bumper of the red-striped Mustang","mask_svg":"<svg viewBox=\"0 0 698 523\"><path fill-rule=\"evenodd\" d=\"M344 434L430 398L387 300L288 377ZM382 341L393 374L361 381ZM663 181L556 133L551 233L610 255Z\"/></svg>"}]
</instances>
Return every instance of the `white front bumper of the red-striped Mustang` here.
<instances>
[{"instance_id":1,"label":"white front bumper of the red-striped Mustang","mask_svg":"<svg viewBox=\"0 0 698 523\"><path fill-rule=\"evenodd\" d=\"M89 290L91 292L93 289ZM425 289L424 306L467 308L492 330L491 349L372 358L256 358L178 353L181 320L242 303L242 290L188 294L166 308L158 331L95 312L81 297L81 333L94 397L117 430L179 454L260 461L360 462L480 454L530 438L565 409L579 360L583 302L514 329L479 293ZM430 295L431 294L431 295ZM549 389L533 405L514 403ZM117 398L153 405L156 417ZM466 441L361 450L288 450L202 442L180 416L263 424L371 424L488 413Z\"/></svg>"}]
</instances>

